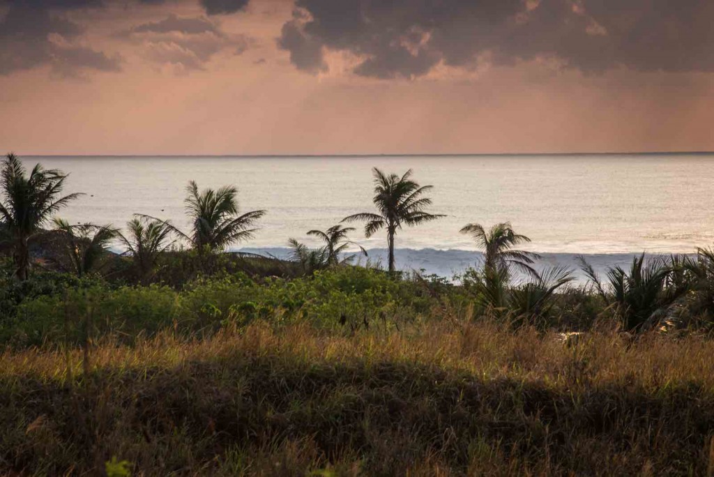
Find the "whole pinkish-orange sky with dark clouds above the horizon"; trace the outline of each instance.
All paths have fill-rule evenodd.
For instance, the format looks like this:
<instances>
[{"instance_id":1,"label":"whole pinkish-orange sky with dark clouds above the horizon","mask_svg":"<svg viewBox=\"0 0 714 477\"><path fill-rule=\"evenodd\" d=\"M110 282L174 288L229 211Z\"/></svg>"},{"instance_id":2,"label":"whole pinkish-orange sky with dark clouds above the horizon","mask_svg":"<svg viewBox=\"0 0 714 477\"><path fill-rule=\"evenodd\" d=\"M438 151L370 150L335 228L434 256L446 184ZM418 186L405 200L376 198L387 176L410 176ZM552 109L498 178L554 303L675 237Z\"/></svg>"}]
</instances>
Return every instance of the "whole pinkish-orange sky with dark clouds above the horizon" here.
<instances>
[{"instance_id":1,"label":"whole pinkish-orange sky with dark clouds above the horizon","mask_svg":"<svg viewBox=\"0 0 714 477\"><path fill-rule=\"evenodd\" d=\"M714 150L707 0L0 0L17 154Z\"/></svg>"}]
</instances>

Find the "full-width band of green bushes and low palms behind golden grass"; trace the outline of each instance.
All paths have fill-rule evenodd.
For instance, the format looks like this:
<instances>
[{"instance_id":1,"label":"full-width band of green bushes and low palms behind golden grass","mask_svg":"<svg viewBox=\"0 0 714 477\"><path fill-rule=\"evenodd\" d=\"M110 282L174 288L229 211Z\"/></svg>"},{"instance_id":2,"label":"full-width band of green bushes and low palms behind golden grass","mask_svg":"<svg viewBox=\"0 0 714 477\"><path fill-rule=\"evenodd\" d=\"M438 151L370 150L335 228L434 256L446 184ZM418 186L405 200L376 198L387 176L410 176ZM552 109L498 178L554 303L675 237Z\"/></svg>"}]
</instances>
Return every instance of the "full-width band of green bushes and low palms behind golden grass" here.
<instances>
[{"instance_id":1,"label":"full-width band of green bushes and low palms behind golden grass","mask_svg":"<svg viewBox=\"0 0 714 477\"><path fill-rule=\"evenodd\" d=\"M711 261L658 259L645 267L643 260L635 258L631 270L613 269L608 283L590 286L573 286L568 272L558 268L525 283L483 269L468 271L458 283L348 265L308 276L266 275L266 268L248 274L250 263L283 271L291 264L218 254L199 266L195 251L166 253L157 277L171 270L173 278L144 286L117 277L76 278L52 271L35 271L18 281L5 266L0 276L0 346L76 345L108 336L132 343L141 334L166 329L202 337L258 319L271 326L304 321L345 333L483 316L540 331L588 331L598 321L628 331L710 329ZM613 284L610 275L621 279ZM663 278L655 281L652 276Z\"/></svg>"}]
</instances>

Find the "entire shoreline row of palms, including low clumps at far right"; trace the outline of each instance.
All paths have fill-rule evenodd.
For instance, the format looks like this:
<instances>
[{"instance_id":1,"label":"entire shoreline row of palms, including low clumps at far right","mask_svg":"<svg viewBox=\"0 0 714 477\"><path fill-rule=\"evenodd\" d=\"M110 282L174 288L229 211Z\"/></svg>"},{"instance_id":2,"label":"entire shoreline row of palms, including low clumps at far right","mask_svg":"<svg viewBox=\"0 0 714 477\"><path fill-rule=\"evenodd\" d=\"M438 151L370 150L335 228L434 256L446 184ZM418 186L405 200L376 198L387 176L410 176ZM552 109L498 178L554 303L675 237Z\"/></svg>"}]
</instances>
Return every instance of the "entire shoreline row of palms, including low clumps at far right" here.
<instances>
[{"instance_id":1,"label":"entire shoreline row of palms, including low clumps at far right","mask_svg":"<svg viewBox=\"0 0 714 477\"><path fill-rule=\"evenodd\" d=\"M361 222L366 237L386 231L387 268L396 276L394 248L399 231L443 217L431 212L428 191L432 186L418 184L411 170L399 176L375 168L373 176L374 211L347 216L325 231L308 231L308 236L322 242L318 248L290 239L293 262L301 266L301 273L310 275L348 263L355 256L348 253L350 247L366 255L364 248L350 239L356 229L348 226ZM118 241L126 250L122 255L130 261L136 283L146 285L156 281L157 270L163 270L157 266L159 258L176 251L177 246L188 247L200 263L226 257L218 252L250 239L266 214L264 210L241 212L233 186L199 189L191 181L184 200L191 224L187 230L144 214L135 214L124 231L109 224L69 224L56 214L80 194L63 194L66 179L62 171L44 169L41 164L27 171L14 154L8 154L1 166L0 252L6 251L11 257L19 283L30 274L31 244L46 237L64 255L64 270L80 277L97 271L106 257L116 257L109 253L109 246ZM532 322L548 316L555 293L573 281L568 268L536 269L538 255L520 249L530 239L517 234L507 222L491 227L466 224L461 233L470 236L483 252L481 266L461 276L461 286L475 297L480 309ZM266 258L270 257L259 257ZM667 326L675 321L714 322L713 249L698 248L695 257L645 258L642 254L634 257L628 268L608 268L603 277L584 260L580 268L589 284L574 306L586 306L583 303L597 297L597 306L615 313L628 330ZM526 279L516 281L517 273Z\"/></svg>"}]
</instances>

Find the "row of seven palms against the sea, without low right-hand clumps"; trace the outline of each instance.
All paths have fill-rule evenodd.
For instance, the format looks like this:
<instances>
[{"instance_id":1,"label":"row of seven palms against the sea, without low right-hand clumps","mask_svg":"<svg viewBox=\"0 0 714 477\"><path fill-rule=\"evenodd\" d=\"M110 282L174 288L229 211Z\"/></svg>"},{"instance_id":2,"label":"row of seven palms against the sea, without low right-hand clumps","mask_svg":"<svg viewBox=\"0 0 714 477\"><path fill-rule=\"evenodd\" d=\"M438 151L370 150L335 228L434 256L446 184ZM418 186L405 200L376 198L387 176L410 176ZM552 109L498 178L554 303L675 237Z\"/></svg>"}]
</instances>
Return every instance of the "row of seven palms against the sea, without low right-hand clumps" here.
<instances>
[{"instance_id":1,"label":"row of seven palms against the sea, without low right-hand clumps","mask_svg":"<svg viewBox=\"0 0 714 477\"><path fill-rule=\"evenodd\" d=\"M386 230L388 271L396 271L394 246L398 231L404 226L418 226L440 219L443 215L426 210L432 205L426 192L433 186L418 184L413 180L411 170L398 176L374 168L373 174L376 212L352 214L326 231L308 231L309 236L324 243L320 248L310 249L290 239L293 258L313 262L311 268L318 268L351 260L353 256L343 258L350 246L356 246L366 256L362 246L348 239L348 234L356 229L342 224L362 221L366 223L366 238ZM93 271L109 244L119 241L133 259L140 280L146 281L151 276L156 258L174 246L176 241L186 243L199 254L223 251L233 243L251 239L258 230L258 220L266 214L264 210L241 214L235 186L199 190L198 184L190 181L184 201L191 221L188 231L181 231L171 221L145 214L135 214L126 224L124 232L111 224L69 224L56 214L82 194L63 195L66 179L67 174L57 169L44 169L41 164L36 164L28 173L19 157L14 154L6 156L0 183L0 225L2 239L11 251L15 275L19 280L26 280L29 276L29 242L36 236L47 234L44 227L48 224L53 227L51 233L64 239L71 271L77 275ZM529 239L515 234L509 224L498 224L490 231L479 224L468 224L461 232L473 236L486 252L486 266L504 268L515 264L537 274L531 268L534 254L511 250L512 246Z\"/></svg>"}]
</instances>

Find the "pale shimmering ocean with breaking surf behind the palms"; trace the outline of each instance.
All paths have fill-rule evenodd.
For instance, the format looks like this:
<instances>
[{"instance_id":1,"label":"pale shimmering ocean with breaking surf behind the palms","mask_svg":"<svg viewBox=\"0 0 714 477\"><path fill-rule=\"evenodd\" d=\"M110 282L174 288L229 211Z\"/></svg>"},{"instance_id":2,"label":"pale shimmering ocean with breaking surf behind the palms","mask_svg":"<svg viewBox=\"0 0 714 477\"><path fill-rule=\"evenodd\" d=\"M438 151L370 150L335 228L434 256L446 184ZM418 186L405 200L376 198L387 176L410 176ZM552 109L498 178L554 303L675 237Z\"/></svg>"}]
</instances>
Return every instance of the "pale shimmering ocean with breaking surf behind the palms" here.
<instances>
[{"instance_id":1,"label":"pale shimmering ocean with breaking surf behind the palms","mask_svg":"<svg viewBox=\"0 0 714 477\"><path fill-rule=\"evenodd\" d=\"M433 185L431 211L446 217L398 232L399 268L451 276L478 260L459 229L510 221L543 253L544 263L596 268L634 253L692 253L714 242L714 155L575 154L517 156L24 156L32 166L69 173L66 192L84 196L61 211L71 221L122 226L149 214L187 226L185 187L232 184L242 211L266 209L255 238L235 249L286 253L288 238L314 244L306 231L371 211L371 168ZM352 238L371 258L385 234Z\"/></svg>"}]
</instances>

